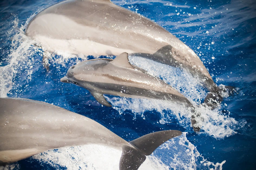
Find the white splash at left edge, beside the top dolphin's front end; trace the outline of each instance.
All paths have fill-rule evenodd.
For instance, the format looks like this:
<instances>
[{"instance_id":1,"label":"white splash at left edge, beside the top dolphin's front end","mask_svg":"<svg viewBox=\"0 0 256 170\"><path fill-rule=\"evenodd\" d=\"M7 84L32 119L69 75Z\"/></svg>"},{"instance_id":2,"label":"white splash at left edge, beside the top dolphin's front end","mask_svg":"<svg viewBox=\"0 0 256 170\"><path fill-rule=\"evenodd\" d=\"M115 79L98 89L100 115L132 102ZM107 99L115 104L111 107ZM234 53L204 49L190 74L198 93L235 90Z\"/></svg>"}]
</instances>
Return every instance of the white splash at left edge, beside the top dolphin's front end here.
<instances>
[{"instance_id":1,"label":"white splash at left edge, beside the top dolphin's front end","mask_svg":"<svg viewBox=\"0 0 256 170\"><path fill-rule=\"evenodd\" d=\"M29 69L33 68L33 62L28 56L37 54L38 49L32 46L34 41L25 36L24 29L23 25L18 28L18 19L15 19L12 29L8 31L9 35L14 32L15 35L12 37L8 64L0 67L0 97L7 97L13 86L12 78L20 72L21 68L28 70L24 76L30 79L31 70Z\"/></svg>"}]
</instances>

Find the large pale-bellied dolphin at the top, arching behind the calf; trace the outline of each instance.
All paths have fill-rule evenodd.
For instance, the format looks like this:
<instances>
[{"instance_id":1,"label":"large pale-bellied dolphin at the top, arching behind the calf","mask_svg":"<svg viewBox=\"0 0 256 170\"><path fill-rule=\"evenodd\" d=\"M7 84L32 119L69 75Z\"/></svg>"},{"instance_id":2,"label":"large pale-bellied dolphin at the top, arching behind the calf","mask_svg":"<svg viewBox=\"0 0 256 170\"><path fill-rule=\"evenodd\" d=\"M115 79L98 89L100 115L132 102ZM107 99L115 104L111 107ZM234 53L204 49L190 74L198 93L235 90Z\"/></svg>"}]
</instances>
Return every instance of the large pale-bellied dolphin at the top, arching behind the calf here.
<instances>
[{"instance_id":1,"label":"large pale-bellied dolphin at the top, arching behind the calf","mask_svg":"<svg viewBox=\"0 0 256 170\"><path fill-rule=\"evenodd\" d=\"M192 49L157 23L109 0L68 0L50 6L31 19L26 35L52 52L94 56L128 52L185 68L210 92L218 93Z\"/></svg>"}]
</instances>

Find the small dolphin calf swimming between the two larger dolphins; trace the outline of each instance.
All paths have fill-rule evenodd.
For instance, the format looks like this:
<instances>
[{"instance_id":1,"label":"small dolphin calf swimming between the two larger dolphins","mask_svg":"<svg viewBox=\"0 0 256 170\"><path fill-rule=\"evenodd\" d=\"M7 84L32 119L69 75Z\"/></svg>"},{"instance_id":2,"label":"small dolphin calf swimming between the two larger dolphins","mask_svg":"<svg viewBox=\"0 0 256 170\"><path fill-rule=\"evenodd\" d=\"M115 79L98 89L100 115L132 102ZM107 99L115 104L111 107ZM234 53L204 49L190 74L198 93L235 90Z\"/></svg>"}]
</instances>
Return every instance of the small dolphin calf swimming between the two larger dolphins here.
<instances>
[{"instance_id":1,"label":"small dolphin calf swimming between the two larger dolphins","mask_svg":"<svg viewBox=\"0 0 256 170\"><path fill-rule=\"evenodd\" d=\"M155 98L181 102L187 107L195 108L179 91L157 77L153 77L129 63L128 53L121 53L113 59L92 59L71 66L64 83L73 83L90 91L95 99L104 106L111 107L103 94L129 98ZM193 115L194 116L194 115ZM194 117L192 126L195 131Z\"/></svg>"}]
</instances>

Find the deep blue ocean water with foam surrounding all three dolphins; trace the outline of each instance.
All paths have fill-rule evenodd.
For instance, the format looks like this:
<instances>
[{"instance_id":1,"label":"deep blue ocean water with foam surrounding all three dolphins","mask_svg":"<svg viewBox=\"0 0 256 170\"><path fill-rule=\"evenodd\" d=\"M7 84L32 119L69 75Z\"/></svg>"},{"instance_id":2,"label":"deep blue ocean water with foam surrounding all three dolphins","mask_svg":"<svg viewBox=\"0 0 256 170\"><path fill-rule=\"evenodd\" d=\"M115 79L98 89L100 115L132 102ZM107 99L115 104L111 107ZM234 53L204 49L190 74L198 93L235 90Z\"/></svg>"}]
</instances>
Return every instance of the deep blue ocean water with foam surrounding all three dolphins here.
<instances>
[{"instance_id":1,"label":"deep blue ocean water with foam surrounding all three dolphins","mask_svg":"<svg viewBox=\"0 0 256 170\"><path fill-rule=\"evenodd\" d=\"M85 115L127 141L160 130L183 134L158 147L139 169L255 169L256 4L254 1L112 1L155 21L194 50L223 92L213 111L200 105L207 91L196 77L164 64L129 56L189 98L203 115L202 132L179 103L106 95L99 104L89 91L60 82L67 69L94 56L44 51L25 36L28 20L59 0L0 2L0 97L45 101ZM49 70L43 66L48 55ZM109 56L111 58L111 56ZM119 151L101 145L53 149L0 169L118 169Z\"/></svg>"}]
</instances>

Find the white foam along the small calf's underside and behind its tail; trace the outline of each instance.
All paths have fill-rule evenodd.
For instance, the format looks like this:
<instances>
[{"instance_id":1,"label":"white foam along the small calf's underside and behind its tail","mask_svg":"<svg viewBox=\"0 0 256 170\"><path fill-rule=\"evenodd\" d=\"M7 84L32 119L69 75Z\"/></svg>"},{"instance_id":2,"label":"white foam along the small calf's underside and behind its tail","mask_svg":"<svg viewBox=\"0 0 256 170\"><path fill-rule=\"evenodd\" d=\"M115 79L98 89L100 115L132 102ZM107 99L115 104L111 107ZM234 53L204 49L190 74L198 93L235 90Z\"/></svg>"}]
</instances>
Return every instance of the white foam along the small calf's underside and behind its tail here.
<instances>
[{"instance_id":1,"label":"white foam along the small calf's underside and behind its tail","mask_svg":"<svg viewBox=\"0 0 256 170\"><path fill-rule=\"evenodd\" d=\"M136 116L145 118L145 111L154 110L155 113L161 116L159 123L165 124L178 121L184 128L192 130L190 118L193 113L186 106L179 103L156 99L110 98L107 96L106 98L120 114L129 110L134 114L134 118ZM210 110L203 105L196 107L196 111L200 113L200 117L197 118L199 127L205 133L218 139L235 134L235 130L243 127L246 123L245 121L238 122L228 115L223 115L218 109Z\"/></svg>"}]
</instances>

